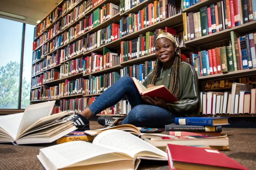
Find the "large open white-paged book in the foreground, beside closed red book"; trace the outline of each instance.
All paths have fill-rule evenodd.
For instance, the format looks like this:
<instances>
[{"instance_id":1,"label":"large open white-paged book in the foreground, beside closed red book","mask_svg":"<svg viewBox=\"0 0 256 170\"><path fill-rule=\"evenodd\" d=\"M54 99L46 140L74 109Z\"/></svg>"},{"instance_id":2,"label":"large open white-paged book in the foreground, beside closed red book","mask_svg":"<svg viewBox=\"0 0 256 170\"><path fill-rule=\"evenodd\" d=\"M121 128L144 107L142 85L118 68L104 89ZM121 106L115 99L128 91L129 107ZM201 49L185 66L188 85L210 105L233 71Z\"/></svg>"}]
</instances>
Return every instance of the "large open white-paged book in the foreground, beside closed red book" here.
<instances>
[{"instance_id":1,"label":"large open white-paged book in the foreground, beside closed red book","mask_svg":"<svg viewBox=\"0 0 256 170\"><path fill-rule=\"evenodd\" d=\"M124 131L110 129L97 135L93 143L71 141L40 149L37 155L46 170L137 169L140 159L167 161L167 154Z\"/></svg>"}]
</instances>

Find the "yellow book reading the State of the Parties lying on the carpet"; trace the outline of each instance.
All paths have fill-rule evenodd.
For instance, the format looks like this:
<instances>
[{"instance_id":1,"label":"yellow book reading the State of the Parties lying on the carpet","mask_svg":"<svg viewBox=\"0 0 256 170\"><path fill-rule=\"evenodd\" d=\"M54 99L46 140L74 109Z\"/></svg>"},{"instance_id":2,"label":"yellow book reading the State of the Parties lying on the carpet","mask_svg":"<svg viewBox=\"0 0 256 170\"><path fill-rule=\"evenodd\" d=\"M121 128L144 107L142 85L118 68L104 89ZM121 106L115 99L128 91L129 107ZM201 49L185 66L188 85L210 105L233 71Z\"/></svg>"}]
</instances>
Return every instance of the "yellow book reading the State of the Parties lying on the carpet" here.
<instances>
[{"instance_id":1,"label":"yellow book reading the State of the Parties lying on the carpet","mask_svg":"<svg viewBox=\"0 0 256 170\"><path fill-rule=\"evenodd\" d=\"M87 135L84 132L73 131L73 132L70 132L69 134L59 138L57 140L57 144L65 143L65 142L69 142L69 141L93 141L93 138L94 138L93 136Z\"/></svg>"}]
</instances>

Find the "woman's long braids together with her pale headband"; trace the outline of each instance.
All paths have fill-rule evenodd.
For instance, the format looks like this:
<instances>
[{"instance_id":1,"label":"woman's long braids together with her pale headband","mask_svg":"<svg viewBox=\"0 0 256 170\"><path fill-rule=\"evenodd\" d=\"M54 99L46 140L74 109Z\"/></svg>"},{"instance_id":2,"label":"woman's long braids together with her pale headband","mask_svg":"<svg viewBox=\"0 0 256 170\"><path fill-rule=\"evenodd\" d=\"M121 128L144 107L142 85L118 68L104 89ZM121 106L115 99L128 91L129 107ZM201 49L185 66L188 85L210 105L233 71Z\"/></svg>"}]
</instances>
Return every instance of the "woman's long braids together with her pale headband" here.
<instances>
[{"instance_id":1,"label":"woman's long braids together with her pale headband","mask_svg":"<svg viewBox=\"0 0 256 170\"><path fill-rule=\"evenodd\" d=\"M167 38L173 42L175 48L175 58L172 64L171 78L169 82L169 91L179 99L180 96L180 66L181 66L181 58L180 58L180 47L175 41L174 37L170 33L162 33L160 34L156 41L159 38ZM150 84L155 84L157 82L157 77L160 75L161 69L163 67L163 63L157 59L157 63L155 65Z\"/></svg>"}]
</instances>

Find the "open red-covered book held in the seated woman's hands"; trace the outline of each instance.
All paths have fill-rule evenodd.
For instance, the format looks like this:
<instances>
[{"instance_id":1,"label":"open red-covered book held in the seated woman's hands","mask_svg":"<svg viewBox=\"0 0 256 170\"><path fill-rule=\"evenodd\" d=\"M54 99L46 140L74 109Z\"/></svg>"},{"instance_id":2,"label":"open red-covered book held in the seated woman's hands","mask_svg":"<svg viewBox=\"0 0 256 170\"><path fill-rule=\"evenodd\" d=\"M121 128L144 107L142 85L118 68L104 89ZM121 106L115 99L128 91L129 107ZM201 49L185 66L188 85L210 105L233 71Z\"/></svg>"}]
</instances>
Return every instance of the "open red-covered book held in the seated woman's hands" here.
<instances>
[{"instance_id":1,"label":"open red-covered book held in the seated woman's hands","mask_svg":"<svg viewBox=\"0 0 256 170\"><path fill-rule=\"evenodd\" d=\"M137 80L137 78L133 77L133 81L139 93L143 96L149 96L153 99L158 97L167 102L178 101L178 99L164 85L146 88L139 82L139 80Z\"/></svg>"}]
</instances>

